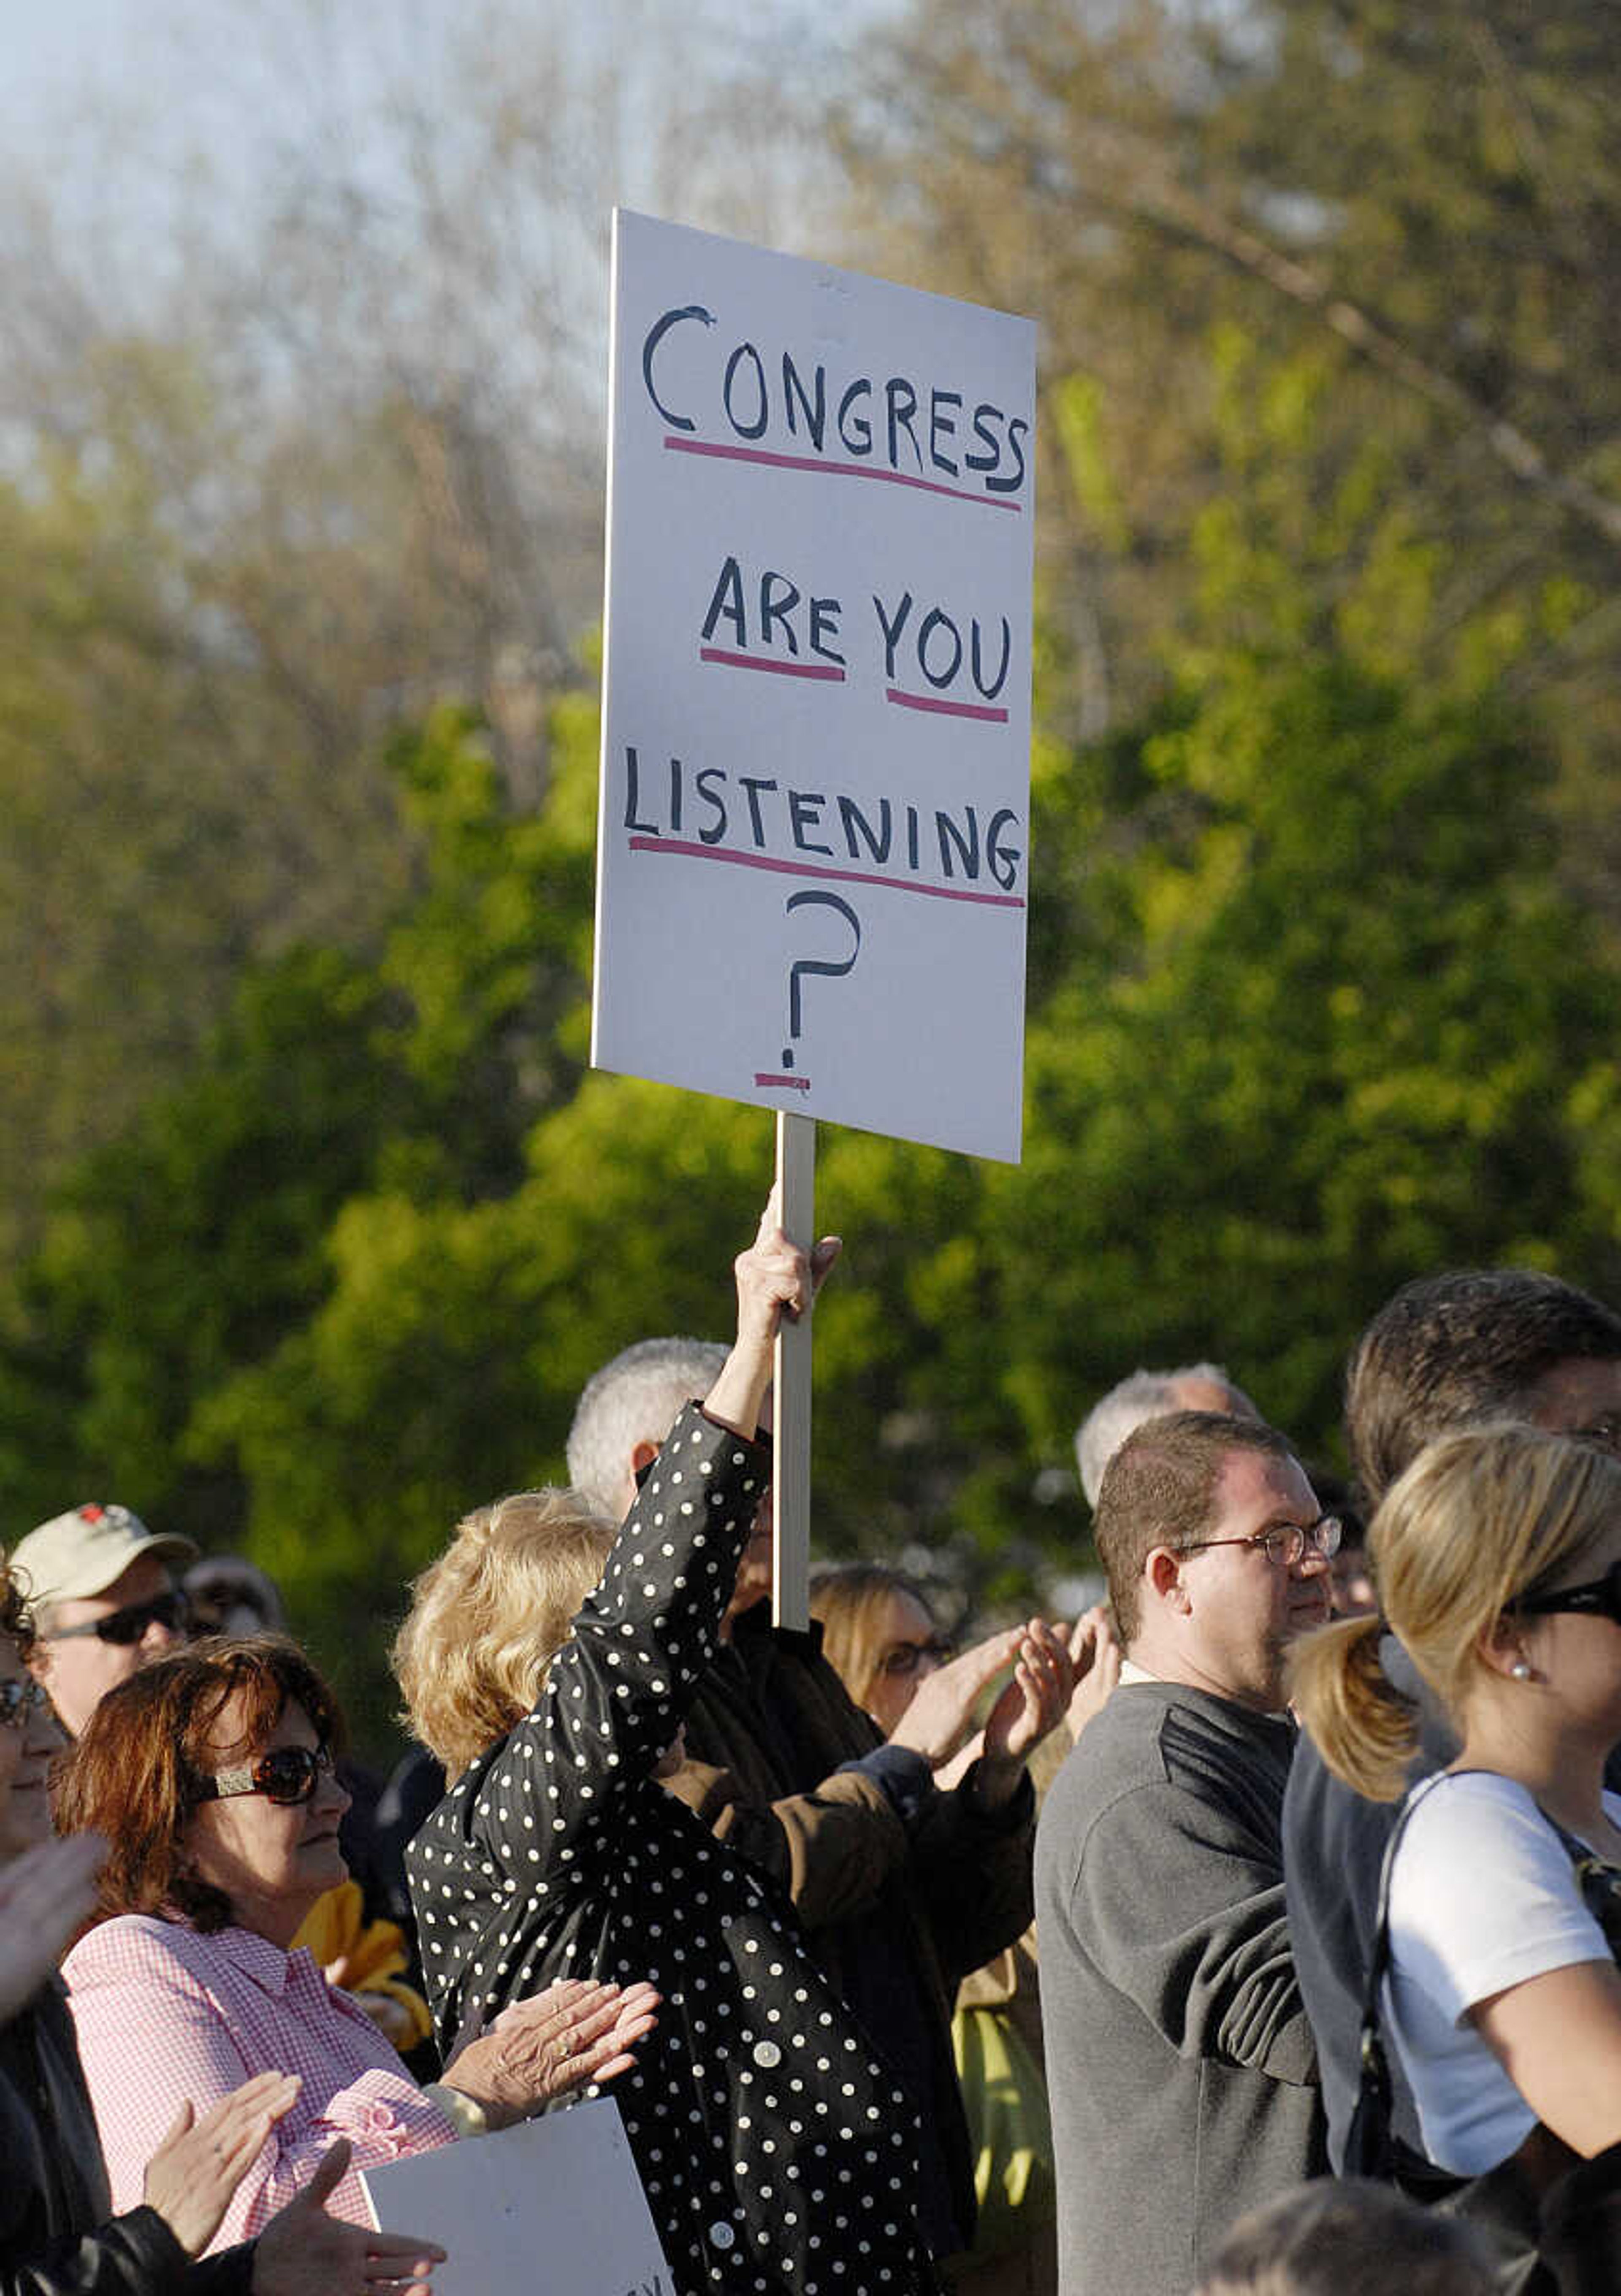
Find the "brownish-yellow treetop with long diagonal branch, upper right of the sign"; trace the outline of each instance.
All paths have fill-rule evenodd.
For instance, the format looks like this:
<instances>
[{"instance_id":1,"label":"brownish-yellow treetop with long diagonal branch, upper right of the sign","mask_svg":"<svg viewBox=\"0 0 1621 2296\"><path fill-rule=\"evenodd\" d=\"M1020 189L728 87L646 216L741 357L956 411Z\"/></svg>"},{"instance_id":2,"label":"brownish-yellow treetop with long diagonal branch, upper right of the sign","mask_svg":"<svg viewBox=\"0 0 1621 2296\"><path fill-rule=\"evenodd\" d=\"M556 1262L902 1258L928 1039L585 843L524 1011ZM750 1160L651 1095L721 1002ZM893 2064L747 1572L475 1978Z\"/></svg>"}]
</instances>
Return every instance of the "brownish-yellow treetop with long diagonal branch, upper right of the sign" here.
<instances>
[{"instance_id":1,"label":"brownish-yellow treetop with long diagonal branch, upper right of the sign","mask_svg":"<svg viewBox=\"0 0 1621 2296\"><path fill-rule=\"evenodd\" d=\"M838 115L854 232L875 269L1042 321L1065 739L1153 703L1221 489L1311 523L1355 487L1357 549L1437 551L1417 675L1504 613L1538 625L1513 677L1561 765L1559 859L1621 928L1619 101L1603 0L898 11ZM1318 372L1281 468L1221 452L1233 326L1251 388ZM1302 608L1355 572L1323 546Z\"/></svg>"}]
</instances>

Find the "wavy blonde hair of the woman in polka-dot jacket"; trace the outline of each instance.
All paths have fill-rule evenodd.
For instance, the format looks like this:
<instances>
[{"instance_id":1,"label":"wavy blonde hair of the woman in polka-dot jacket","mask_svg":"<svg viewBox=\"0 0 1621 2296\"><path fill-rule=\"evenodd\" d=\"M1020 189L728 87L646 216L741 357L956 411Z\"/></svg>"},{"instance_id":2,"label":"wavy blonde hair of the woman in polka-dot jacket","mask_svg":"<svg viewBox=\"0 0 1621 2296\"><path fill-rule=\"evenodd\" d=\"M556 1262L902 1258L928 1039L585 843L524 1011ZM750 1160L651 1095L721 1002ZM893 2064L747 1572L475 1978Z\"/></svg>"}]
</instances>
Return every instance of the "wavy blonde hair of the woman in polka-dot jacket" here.
<instances>
[{"instance_id":1,"label":"wavy blonde hair of the woman in polka-dot jacket","mask_svg":"<svg viewBox=\"0 0 1621 2296\"><path fill-rule=\"evenodd\" d=\"M402 1720L452 1782L530 1711L611 1545L579 1490L519 1490L464 1515L411 1584L390 1651Z\"/></svg>"}]
</instances>

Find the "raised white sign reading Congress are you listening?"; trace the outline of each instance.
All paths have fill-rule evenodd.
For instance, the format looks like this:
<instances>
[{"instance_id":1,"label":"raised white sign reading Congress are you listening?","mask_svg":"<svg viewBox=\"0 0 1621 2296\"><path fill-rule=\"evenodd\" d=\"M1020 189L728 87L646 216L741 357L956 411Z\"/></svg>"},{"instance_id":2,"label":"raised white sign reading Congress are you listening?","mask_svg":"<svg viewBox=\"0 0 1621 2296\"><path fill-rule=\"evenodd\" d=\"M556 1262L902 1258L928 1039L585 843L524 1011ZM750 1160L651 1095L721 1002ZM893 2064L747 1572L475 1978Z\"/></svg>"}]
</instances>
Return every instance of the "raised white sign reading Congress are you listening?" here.
<instances>
[{"instance_id":1,"label":"raised white sign reading Congress are you listening?","mask_svg":"<svg viewBox=\"0 0 1621 2296\"><path fill-rule=\"evenodd\" d=\"M1029 319L620 211L592 1061L1017 1162Z\"/></svg>"}]
</instances>

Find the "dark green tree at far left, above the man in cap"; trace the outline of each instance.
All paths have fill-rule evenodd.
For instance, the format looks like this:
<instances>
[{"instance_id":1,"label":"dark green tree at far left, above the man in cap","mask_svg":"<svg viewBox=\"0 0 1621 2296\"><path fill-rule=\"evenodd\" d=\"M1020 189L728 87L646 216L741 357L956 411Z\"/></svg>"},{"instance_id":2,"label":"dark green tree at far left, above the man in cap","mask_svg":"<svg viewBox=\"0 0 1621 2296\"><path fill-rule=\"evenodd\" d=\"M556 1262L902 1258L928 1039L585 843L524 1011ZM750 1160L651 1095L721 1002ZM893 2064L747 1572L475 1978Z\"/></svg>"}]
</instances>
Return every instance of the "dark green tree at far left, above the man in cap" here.
<instances>
[{"instance_id":1,"label":"dark green tree at far left, above the man in cap","mask_svg":"<svg viewBox=\"0 0 1621 2296\"><path fill-rule=\"evenodd\" d=\"M331 1219L418 1116L377 1056L383 1010L338 951L250 971L195 1075L60 1189L25 1277L32 1345L0 1357L11 1520L117 1492L209 1545L241 1529L234 1479L186 1474L186 1428L310 1313Z\"/></svg>"}]
</instances>

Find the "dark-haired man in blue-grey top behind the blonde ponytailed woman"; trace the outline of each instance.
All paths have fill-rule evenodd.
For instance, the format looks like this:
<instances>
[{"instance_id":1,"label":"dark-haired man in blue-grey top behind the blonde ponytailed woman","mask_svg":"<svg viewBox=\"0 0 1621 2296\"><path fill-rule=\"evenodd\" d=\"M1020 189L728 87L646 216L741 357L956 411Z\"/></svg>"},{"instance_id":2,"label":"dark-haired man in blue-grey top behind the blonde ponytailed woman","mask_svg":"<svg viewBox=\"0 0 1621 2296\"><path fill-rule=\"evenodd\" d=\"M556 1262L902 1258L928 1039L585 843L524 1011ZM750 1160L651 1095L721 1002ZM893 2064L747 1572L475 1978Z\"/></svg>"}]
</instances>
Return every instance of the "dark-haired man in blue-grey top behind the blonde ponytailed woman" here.
<instances>
[{"instance_id":1,"label":"dark-haired man in blue-grey top behind the blonde ponytailed woman","mask_svg":"<svg viewBox=\"0 0 1621 2296\"><path fill-rule=\"evenodd\" d=\"M1345 1437L1368 1515L1428 1442L1522 1419L1621 1456L1621 1316L1529 1267L1465 1267L1403 1283L1345 1371ZM1458 1738L1394 1635L1385 1674L1419 1706L1410 1784L1444 1770ZM1607 1773L1621 1791L1621 1759ZM1329 2158L1343 2158L1362 2073L1362 1998L1385 1844L1401 1802L1368 1802L1302 1740L1283 1802L1283 1876L1300 1986L1318 2037ZM1389 2050L1391 2128L1421 2149L1419 2115Z\"/></svg>"}]
</instances>

